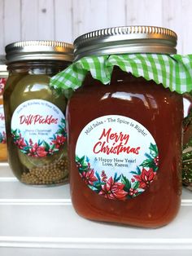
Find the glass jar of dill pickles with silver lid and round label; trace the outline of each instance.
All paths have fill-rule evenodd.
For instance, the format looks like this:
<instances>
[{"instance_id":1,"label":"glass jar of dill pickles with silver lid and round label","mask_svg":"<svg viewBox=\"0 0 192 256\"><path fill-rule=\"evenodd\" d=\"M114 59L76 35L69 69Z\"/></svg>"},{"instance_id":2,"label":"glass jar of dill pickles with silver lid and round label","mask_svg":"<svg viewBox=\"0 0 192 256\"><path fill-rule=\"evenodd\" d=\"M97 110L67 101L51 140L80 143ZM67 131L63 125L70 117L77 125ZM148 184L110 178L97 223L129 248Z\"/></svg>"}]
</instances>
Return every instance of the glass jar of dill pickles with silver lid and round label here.
<instances>
[{"instance_id":1,"label":"glass jar of dill pickles with silver lid and round label","mask_svg":"<svg viewBox=\"0 0 192 256\"><path fill-rule=\"evenodd\" d=\"M8 161L15 176L31 185L68 182L64 94L50 77L72 62L65 42L26 41L6 46L9 77L4 91Z\"/></svg>"}]
</instances>

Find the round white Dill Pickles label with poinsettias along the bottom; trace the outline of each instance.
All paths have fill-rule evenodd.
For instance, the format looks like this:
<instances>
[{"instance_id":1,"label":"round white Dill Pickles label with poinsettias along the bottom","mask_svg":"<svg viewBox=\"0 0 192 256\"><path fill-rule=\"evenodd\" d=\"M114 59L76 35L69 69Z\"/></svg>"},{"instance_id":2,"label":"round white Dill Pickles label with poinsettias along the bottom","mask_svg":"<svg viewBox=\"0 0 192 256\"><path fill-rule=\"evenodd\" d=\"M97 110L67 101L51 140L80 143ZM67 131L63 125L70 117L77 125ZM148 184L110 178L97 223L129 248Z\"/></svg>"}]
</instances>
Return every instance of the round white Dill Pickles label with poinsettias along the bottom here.
<instances>
[{"instance_id":1,"label":"round white Dill Pickles label with poinsettias along the bottom","mask_svg":"<svg viewBox=\"0 0 192 256\"><path fill-rule=\"evenodd\" d=\"M47 157L66 141L65 117L55 104L31 99L15 108L11 134L15 145L28 157Z\"/></svg>"}]
</instances>

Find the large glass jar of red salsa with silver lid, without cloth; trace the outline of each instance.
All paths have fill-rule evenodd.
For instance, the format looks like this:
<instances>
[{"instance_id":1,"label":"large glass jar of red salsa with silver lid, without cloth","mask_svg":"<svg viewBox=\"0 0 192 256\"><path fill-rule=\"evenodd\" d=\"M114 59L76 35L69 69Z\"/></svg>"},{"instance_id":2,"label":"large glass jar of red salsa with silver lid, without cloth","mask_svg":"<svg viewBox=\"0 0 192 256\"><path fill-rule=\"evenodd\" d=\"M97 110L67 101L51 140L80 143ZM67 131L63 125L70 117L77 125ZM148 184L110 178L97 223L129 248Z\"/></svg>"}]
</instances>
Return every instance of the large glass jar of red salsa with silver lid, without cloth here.
<instances>
[{"instance_id":1,"label":"large glass jar of red salsa with silver lid, without cloth","mask_svg":"<svg viewBox=\"0 0 192 256\"><path fill-rule=\"evenodd\" d=\"M75 58L176 53L177 35L156 27L87 33ZM96 221L160 227L181 204L181 95L113 68L107 85L88 75L68 102L72 204Z\"/></svg>"}]
</instances>

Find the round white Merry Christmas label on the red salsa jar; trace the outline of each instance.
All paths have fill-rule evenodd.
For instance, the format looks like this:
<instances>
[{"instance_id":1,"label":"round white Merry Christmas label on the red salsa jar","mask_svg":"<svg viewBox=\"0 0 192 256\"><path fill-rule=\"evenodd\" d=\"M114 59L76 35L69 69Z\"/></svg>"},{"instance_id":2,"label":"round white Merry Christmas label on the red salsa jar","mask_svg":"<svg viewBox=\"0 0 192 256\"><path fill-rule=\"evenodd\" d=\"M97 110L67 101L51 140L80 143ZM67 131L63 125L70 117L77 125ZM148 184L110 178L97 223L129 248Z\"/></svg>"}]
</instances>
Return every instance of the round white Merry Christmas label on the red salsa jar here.
<instances>
[{"instance_id":1,"label":"round white Merry Christmas label on the red salsa jar","mask_svg":"<svg viewBox=\"0 0 192 256\"><path fill-rule=\"evenodd\" d=\"M76 167L85 184L107 199L126 200L155 179L155 139L139 122L109 115L90 121L76 143Z\"/></svg>"}]
</instances>

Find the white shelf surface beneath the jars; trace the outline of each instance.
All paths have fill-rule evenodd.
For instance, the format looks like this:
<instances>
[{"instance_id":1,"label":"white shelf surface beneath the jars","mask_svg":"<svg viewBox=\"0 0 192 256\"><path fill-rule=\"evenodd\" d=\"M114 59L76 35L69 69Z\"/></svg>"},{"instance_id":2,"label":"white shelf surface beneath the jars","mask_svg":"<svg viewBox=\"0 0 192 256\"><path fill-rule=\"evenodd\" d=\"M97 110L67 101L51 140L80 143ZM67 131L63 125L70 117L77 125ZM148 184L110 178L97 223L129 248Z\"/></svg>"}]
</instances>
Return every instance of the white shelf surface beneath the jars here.
<instances>
[{"instance_id":1,"label":"white shelf surface beneath the jars","mask_svg":"<svg viewBox=\"0 0 192 256\"><path fill-rule=\"evenodd\" d=\"M192 192L172 223L143 229L97 223L73 210L68 185L26 186L0 164L0 255L192 255Z\"/></svg>"}]
</instances>

